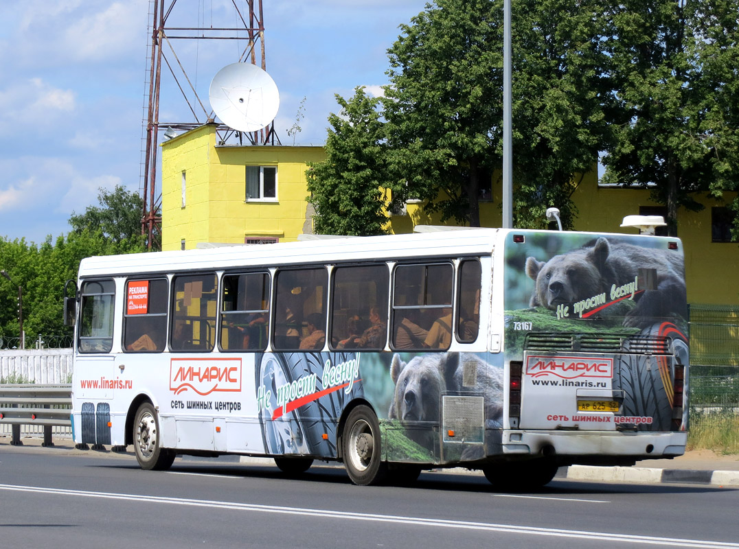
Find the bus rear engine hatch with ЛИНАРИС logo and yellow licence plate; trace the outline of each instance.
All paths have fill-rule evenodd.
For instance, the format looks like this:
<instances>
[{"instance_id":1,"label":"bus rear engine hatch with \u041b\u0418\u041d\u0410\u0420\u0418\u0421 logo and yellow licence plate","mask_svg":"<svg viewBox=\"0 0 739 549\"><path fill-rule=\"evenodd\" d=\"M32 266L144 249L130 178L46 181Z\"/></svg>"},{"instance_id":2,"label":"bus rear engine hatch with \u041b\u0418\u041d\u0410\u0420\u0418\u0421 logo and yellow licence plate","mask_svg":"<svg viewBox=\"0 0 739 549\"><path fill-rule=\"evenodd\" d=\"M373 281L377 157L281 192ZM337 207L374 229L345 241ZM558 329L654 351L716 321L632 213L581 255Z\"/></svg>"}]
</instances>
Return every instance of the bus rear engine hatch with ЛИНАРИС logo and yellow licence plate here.
<instances>
[{"instance_id":1,"label":"bus rear engine hatch with \u041b\u0418\u041d\u0410\u0420\u0418\u0421 logo and yellow licence plate","mask_svg":"<svg viewBox=\"0 0 739 549\"><path fill-rule=\"evenodd\" d=\"M669 338L537 335L526 347L521 429L670 431L682 417Z\"/></svg>"}]
</instances>

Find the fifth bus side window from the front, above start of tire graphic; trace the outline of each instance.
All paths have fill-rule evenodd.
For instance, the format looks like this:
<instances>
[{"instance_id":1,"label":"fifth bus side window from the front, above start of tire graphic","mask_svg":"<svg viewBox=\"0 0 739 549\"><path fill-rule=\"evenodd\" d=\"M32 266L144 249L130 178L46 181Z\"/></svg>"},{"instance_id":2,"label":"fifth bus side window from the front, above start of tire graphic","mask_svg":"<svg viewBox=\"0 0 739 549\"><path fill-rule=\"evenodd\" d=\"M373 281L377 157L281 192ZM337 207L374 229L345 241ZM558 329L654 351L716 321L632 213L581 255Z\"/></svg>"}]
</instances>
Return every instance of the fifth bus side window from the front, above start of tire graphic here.
<instances>
[{"instance_id":1,"label":"fifth bus side window from the front, above start of tire graphic","mask_svg":"<svg viewBox=\"0 0 739 549\"><path fill-rule=\"evenodd\" d=\"M324 267L277 271L275 276L275 320L272 329L273 349L296 351L323 347L321 341L326 339L327 288L328 273ZM316 313L320 317L316 317ZM307 322L309 316L310 320L321 325L315 326L311 323L309 327ZM309 329L311 330L310 333L308 333Z\"/></svg>"}]
</instances>

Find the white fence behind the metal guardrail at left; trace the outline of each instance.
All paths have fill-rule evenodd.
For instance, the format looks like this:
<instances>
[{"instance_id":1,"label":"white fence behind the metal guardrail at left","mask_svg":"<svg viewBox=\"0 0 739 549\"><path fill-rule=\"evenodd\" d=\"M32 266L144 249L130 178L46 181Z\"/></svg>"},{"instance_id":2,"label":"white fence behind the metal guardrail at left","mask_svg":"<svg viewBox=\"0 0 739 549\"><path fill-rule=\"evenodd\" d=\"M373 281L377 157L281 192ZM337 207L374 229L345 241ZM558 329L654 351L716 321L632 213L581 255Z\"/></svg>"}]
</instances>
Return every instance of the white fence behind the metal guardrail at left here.
<instances>
[{"instance_id":1,"label":"white fence behind the metal guardrail at left","mask_svg":"<svg viewBox=\"0 0 739 549\"><path fill-rule=\"evenodd\" d=\"M55 384L72 381L72 349L0 350L0 382ZM10 436L12 426L0 426ZM69 427L53 427L53 434L72 435ZM22 425L21 436L44 436L43 426Z\"/></svg>"}]
</instances>

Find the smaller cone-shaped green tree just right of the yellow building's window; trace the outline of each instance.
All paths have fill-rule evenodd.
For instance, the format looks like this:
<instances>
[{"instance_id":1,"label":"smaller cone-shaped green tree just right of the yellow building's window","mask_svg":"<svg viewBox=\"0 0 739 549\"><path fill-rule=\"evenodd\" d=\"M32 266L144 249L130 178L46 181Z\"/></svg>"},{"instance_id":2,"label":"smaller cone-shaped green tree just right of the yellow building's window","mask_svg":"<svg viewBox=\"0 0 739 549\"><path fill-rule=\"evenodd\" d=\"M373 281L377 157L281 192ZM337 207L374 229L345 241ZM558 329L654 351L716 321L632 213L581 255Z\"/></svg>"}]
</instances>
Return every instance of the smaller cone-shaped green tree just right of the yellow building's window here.
<instances>
[{"instance_id":1,"label":"smaller cone-shaped green tree just right of the yellow building's window","mask_svg":"<svg viewBox=\"0 0 739 549\"><path fill-rule=\"evenodd\" d=\"M307 200L316 211L313 231L352 236L384 233L384 188L392 185L386 176L379 100L358 86L353 98L336 95L336 101L341 111L328 118L326 160L309 163L306 171Z\"/></svg>"}]
</instances>

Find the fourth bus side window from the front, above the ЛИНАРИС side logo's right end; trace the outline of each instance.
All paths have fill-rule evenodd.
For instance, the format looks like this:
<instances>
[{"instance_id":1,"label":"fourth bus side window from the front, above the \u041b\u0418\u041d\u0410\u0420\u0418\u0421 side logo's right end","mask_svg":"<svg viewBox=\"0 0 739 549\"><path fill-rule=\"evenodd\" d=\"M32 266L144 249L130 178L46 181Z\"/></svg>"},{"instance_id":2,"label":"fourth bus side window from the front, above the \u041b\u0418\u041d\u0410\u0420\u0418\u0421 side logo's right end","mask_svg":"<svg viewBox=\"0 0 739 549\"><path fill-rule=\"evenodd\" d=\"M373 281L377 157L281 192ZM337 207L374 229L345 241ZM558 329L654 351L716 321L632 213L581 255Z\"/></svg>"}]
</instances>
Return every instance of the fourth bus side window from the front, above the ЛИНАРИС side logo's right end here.
<instances>
[{"instance_id":1,"label":"fourth bus side window from the front, above the \u041b\u0418\u041d\u0410\u0420\u0418\u0421 side logo's right end","mask_svg":"<svg viewBox=\"0 0 739 549\"><path fill-rule=\"evenodd\" d=\"M226 274L221 285L221 349L266 349L270 325L269 273Z\"/></svg>"}]
</instances>

